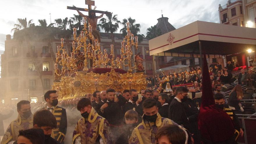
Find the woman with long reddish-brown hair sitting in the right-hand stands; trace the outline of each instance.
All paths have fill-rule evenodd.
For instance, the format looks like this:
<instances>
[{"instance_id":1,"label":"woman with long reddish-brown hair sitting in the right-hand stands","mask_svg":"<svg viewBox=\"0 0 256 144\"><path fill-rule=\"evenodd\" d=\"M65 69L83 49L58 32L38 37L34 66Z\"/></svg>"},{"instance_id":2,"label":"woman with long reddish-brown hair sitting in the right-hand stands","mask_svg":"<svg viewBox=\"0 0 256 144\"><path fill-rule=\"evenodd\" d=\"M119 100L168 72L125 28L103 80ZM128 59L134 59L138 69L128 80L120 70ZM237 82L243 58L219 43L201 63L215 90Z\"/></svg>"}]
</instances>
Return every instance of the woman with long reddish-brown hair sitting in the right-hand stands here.
<instances>
[{"instance_id":1,"label":"woman with long reddish-brown hair sitting in the right-hand stands","mask_svg":"<svg viewBox=\"0 0 256 144\"><path fill-rule=\"evenodd\" d=\"M228 102L230 109L243 111L242 105L239 102L243 98L243 90L241 85L236 85L229 94Z\"/></svg>"}]
</instances>

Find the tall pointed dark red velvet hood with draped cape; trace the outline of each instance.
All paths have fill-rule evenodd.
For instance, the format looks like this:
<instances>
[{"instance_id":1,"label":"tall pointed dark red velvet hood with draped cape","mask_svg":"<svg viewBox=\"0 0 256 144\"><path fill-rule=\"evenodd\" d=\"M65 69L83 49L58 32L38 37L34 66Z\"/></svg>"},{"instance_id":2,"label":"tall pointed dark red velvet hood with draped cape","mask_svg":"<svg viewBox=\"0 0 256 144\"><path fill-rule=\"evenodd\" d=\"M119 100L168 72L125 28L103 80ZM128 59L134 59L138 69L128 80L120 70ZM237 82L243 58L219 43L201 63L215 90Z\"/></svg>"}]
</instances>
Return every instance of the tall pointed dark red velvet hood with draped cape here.
<instances>
[{"instance_id":1,"label":"tall pointed dark red velvet hood with draped cape","mask_svg":"<svg viewBox=\"0 0 256 144\"><path fill-rule=\"evenodd\" d=\"M198 115L198 129L202 140L213 143L229 140L234 136L234 123L225 111L215 107L205 54L202 77L202 103Z\"/></svg>"}]
</instances>

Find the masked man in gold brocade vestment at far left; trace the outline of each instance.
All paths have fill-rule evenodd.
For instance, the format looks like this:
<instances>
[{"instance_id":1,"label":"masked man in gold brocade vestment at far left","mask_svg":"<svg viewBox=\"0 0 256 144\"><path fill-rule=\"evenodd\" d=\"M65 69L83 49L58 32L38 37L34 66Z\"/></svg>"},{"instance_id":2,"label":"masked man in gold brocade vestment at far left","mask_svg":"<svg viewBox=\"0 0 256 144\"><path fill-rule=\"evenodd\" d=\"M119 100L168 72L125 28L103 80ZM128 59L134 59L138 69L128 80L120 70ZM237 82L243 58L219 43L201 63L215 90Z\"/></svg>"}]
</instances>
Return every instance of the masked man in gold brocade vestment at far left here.
<instances>
[{"instance_id":1,"label":"masked man in gold brocade vestment at far left","mask_svg":"<svg viewBox=\"0 0 256 144\"><path fill-rule=\"evenodd\" d=\"M1 144L15 144L20 130L33 128L33 115L30 102L22 100L17 103L18 118L10 123L3 136Z\"/></svg>"}]
</instances>

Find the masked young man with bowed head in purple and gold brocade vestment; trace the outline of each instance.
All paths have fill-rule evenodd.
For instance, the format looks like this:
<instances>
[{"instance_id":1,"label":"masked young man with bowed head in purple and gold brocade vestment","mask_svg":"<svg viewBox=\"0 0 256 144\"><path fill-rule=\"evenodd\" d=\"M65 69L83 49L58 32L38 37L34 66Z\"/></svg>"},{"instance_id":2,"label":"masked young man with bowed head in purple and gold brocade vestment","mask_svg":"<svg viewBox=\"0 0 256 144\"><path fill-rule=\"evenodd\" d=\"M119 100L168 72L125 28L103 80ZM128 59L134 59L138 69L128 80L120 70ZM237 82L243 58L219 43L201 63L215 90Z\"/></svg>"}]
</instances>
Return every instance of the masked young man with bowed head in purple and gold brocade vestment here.
<instances>
[{"instance_id":1,"label":"masked young man with bowed head in purple and gold brocade vestment","mask_svg":"<svg viewBox=\"0 0 256 144\"><path fill-rule=\"evenodd\" d=\"M87 98L82 98L77 104L82 118L77 122L73 133L72 144L112 144L109 122L98 115Z\"/></svg>"}]
</instances>

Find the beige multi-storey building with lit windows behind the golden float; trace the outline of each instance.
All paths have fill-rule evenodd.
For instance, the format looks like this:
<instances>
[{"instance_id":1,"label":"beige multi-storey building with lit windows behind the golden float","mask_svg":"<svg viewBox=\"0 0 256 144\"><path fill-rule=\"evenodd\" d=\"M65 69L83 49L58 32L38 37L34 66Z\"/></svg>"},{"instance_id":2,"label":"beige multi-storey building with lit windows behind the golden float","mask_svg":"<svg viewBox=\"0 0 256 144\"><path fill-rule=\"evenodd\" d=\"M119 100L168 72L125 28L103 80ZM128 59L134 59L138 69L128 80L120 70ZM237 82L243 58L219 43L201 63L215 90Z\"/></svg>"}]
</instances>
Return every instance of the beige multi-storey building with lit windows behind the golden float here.
<instances>
[{"instance_id":1,"label":"beige multi-storey building with lit windows behind the golden float","mask_svg":"<svg viewBox=\"0 0 256 144\"><path fill-rule=\"evenodd\" d=\"M107 50L110 54L112 44L109 33L100 33L101 50ZM120 56L120 48L123 37L115 33L115 56ZM64 40L67 52L72 51L72 37ZM43 95L51 89L54 82L55 61L50 53L51 49L56 53L56 47L61 45L61 40L55 37L49 47L48 42L31 41L30 46L26 42L18 42L11 35L6 35L5 51L1 55L0 100L5 104L17 104L20 100L42 102ZM149 56L148 40L144 39L138 44L138 50L145 67L145 74L153 74L153 57ZM33 55L31 58L31 54ZM38 67L38 68L37 68ZM90 66L89 66L90 68ZM3 102L1 102L2 104Z\"/></svg>"}]
</instances>

